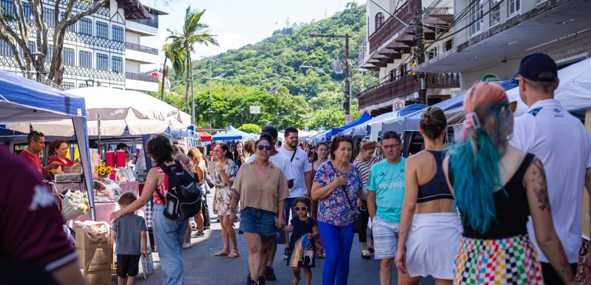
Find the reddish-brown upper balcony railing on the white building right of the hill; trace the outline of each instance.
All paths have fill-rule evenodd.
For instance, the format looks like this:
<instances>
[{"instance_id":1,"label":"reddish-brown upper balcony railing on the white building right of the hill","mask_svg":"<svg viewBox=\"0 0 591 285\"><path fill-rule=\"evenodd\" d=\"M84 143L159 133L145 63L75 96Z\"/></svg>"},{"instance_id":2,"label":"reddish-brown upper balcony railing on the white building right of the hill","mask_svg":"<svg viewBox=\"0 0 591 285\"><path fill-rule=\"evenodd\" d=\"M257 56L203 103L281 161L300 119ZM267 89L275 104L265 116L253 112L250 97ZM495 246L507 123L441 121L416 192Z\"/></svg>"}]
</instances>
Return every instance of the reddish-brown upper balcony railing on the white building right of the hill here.
<instances>
[{"instance_id":1,"label":"reddish-brown upper balcony railing on the white building right of the hill","mask_svg":"<svg viewBox=\"0 0 591 285\"><path fill-rule=\"evenodd\" d=\"M406 4L402 5L402 8L398 9L396 17L401 21L408 24L411 19L414 18L414 7L416 6L417 0L408 0ZM411 12L408 9L410 5ZM370 54L374 52L384 41L396 34L401 28L405 28L404 25L394 17L388 18L384 24L376 30L373 34L369 35L369 47Z\"/></svg>"}]
</instances>

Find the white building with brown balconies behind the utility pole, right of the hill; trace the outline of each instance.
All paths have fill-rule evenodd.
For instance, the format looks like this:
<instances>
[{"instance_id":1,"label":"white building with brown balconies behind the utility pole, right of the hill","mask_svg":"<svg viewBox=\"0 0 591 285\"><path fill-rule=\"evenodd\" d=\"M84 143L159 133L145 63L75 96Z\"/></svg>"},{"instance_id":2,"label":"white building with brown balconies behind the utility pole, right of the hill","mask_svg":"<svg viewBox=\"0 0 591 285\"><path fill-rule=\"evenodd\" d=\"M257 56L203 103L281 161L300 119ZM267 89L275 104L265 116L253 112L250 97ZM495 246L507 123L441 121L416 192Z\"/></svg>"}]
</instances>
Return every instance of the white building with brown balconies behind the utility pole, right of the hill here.
<instances>
[{"instance_id":1,"label":"white building with brown balconies behind the utility pole, right of the hill","mask_svg":"<svg viewBox=\"0 0 591 285\"><path fill-rule=\"evenodd\" d=\"M376 4L377 3L377 4ZM367 42L362 47L358 65L379 71L379 80L359 93L359 109L372 114L392 111L392 104L418 100L418 83L412 74L417 46L417 8L422 8L426 60L452 48L446 39L453 32L454 0L376 0L366 3ZM394 15L394 17L392 17ZM428 73L427 103L450 97L459 89L455 73Z\"/></svg>"}]
</instances>

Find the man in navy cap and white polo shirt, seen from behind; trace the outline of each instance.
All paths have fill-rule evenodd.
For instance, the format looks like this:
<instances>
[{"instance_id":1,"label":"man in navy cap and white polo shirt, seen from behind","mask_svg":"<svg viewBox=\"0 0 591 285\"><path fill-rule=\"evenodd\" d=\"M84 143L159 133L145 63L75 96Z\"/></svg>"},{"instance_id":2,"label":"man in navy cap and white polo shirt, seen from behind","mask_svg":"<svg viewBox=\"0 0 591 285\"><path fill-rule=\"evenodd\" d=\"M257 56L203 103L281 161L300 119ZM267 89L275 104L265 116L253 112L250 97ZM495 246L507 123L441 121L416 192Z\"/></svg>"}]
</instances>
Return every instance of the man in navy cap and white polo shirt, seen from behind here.
<instances>
[{"instance_id":1,"label":"man in navy cap and white polo shirt, seen from behind","mask_svg":"<svg viewBox=\"0 0 591 285\"><path fill-rule=\"evenodd\" d=\"M554 99L558 87L556 63L548 55L534 53L521 60L515 76L519 96L529 110L516 117L509 143L533 153L543 163L548 184L554 228L563 244L573 272L581 247L581 208L584 187L591 191L591 136L580 122ZM542 263L545 284L563 284L535 240L532 220L528 222L531 241ZM587 254L587 263L591 256Z\"/></svg>"}]
</instances>

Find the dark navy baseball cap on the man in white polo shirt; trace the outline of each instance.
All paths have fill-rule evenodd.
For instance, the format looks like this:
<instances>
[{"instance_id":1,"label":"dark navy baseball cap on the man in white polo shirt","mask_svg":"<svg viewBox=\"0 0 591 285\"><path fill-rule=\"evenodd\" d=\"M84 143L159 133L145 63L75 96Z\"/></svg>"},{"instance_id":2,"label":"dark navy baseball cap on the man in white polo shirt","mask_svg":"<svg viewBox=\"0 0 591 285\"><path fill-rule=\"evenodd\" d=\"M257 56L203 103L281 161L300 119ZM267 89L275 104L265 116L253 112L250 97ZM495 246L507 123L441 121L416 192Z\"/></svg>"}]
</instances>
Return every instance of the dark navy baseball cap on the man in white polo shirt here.
<instances>
[{"instance_id":1,"label":"dark navy baseball cap on the man in white polo shirt","mask_svg":"<svg viewBox=\"0 0 591 285\"><path fill-rule=\"evenodd\" d=\"M533 53L524 57L519 64L519 70L514 76L538 82L553 82L558 78L558 68L554 60L547 54ZM540 78L540 74L550 72L554 78Z\"/></svg>"}]
</instances>

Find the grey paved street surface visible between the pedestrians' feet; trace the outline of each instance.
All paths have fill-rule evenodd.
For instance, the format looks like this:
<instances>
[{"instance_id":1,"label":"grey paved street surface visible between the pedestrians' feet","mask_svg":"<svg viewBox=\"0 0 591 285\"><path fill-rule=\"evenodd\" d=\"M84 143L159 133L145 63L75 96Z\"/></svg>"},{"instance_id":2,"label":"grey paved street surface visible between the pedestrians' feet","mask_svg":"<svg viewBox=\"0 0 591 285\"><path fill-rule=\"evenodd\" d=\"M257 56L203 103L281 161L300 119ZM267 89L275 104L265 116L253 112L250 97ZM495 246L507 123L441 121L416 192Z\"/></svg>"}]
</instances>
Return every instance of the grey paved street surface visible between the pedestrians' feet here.
<instances>
[{"instance_id":1,"label":"grey paved street surface visible between the pedestrians' feet","mask_svg":"<svg viewBox=\"0 0 591 285\"><path fill-rule=\"evenodd\" d=\"M212 196L207 198L212 201ZM185 284L246 284L248 274L248 247L244 235L237 235L238 249L241 255L237 258L214 257L213 254L222 250L222 234L220 224L216 222L216 216L212 214L212 230L206 231L205 237L193 238L192 248L184 250ZM238 228L238 224L237 227ZM238 231L236 231L238 232ZM270 285L290 284L293 280L291 267L282 260L282 245L277 251L274 269L277 281L268 281ZM143 280L142 272L138 275L137 284L160 285L162 284L160 262L158 253L153 253L155 273L148 275ZM321 284L322 266L324 260L316 259L316 268L312 270L312 284ZM392 284L397 283L396 270L393 270ZM302 271L303 278L303 271ZM300 284L305 284L303 280ZM353 250L350 258L349 284L379 284L379 261L364 260L361 258L361 244L358 238L353 241ZM420 283L434 284L432 279L423 280Z\"/></svg>"}]
</instances>

